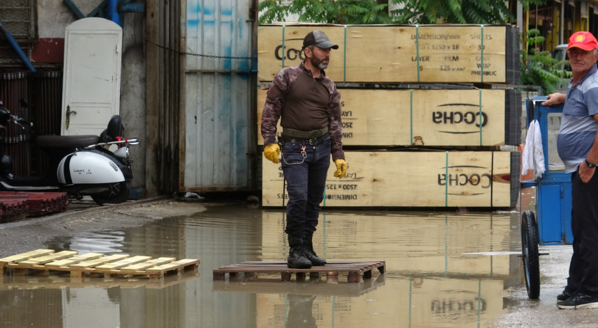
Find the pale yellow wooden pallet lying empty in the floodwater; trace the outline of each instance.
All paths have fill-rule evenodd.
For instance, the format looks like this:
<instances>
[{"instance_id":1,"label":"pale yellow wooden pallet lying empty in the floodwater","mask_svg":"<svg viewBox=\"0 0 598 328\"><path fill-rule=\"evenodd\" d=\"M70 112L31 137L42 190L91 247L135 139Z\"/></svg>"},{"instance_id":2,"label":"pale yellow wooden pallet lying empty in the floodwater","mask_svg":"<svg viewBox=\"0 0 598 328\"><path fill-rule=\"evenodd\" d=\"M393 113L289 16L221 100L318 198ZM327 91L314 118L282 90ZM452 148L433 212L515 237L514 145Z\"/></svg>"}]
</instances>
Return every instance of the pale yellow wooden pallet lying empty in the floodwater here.
<instances>
[{"instance_id":1,"label":"pale yellow wooden pallet lying empty in the floodwater","mask_svg":"<svg viewBox=\"0 0 598 328\"><path fill-rule=\"evenodd\" d=\"M86 253L78 255L77 251L59 251L37 249L7 258L0 258L3 274L12 270L14 275L29 274L29 270L37 274L49 275L50 271L70 272L71 277L82 277L84 274L100 274L104 277L115 276L147 276L151 279L162 279L165 274L194 270L200 260L185 258L155 258L151 256L133 256L103 253Z\"/></svg>"}]
</instances>

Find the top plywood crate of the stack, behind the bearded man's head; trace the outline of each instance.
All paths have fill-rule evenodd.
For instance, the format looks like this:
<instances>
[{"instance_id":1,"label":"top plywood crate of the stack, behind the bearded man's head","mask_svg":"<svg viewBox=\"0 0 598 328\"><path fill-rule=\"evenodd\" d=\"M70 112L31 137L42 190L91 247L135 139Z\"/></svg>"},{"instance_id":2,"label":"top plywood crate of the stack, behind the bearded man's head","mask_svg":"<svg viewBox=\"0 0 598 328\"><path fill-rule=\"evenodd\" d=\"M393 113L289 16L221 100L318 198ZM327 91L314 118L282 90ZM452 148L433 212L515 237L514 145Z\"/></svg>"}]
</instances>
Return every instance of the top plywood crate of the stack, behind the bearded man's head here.
<instances>
[{"instance_id":1,"label":"top plywood crate of the stack, behind the bearded man's head","mask_svg":"<svg viewBox=\"0 0 598 328\"><path fill-rule=\"evenodd\" d=\"M299 65L306 34L338 45L326 73L336 82L519 84L519 30L507 25L260 25L257 77ZM284 47L284 50L283 50Z\"/></svg>"}]
</instances>

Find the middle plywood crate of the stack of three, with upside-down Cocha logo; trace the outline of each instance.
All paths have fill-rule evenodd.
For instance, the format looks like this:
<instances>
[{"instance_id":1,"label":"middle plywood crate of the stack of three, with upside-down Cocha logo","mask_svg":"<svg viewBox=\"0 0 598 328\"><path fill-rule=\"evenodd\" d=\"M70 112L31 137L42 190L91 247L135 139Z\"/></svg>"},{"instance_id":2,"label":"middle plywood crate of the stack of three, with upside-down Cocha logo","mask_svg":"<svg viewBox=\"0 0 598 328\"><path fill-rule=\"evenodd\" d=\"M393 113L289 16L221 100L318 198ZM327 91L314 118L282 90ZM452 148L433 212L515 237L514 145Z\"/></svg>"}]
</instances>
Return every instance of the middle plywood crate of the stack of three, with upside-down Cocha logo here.
<instances>
[{"instance_id":1,"label":"middle plywood crate of the stack of three, with upside-down Cocha logo","mask_svg":"<svg viewBox=\"0 0 598 328\"><path fill-rule=\"evenodd\" d=\"M345 146L500 146L521 143L521 92L345 88ZM257 91L257 143L267 90ZM480 123L481 111L481 129ZM280 120L278 135L282 132Z\"/></svg>"}]
</instances>

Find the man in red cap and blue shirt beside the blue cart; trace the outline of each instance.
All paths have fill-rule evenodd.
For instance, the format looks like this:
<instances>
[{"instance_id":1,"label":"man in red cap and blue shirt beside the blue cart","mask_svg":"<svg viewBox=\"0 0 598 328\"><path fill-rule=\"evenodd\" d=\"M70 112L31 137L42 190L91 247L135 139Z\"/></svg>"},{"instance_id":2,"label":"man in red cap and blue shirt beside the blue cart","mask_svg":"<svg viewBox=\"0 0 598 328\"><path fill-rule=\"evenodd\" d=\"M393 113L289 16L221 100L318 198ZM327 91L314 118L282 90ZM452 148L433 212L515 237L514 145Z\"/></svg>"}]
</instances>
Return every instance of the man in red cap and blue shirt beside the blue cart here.
<instances>
[{"instance_id":1,"label":"man in red cap and blue shirt beside the blue cart","mask_svg":"<svg viewBox=\"0 0 598 328\"><path fill-rule=\"evenodd\" d=\"M571 174L573 256L560 309L598 308L598 42L589 32L569 38L573 78L567 94L553 93L543 105L565 102L558 155Z\"/></svg>"}]
</instances>

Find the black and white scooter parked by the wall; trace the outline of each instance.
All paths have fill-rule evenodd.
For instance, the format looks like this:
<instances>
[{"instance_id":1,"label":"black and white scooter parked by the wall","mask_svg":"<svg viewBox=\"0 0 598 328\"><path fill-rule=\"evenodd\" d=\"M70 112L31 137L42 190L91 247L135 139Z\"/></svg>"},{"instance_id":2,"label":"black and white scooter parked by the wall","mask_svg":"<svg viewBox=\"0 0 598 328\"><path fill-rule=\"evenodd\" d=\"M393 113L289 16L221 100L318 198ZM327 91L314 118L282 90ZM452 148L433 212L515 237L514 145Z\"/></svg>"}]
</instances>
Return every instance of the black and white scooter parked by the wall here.
<instances>
[{"instance_id":1,"label":"black and white scooter parked by the wall","mask_svg":"<svg viewBox=\"0 0 598 328\"><path fill-rule=\"evenodd\" d=\"M126 201L133 172L129 145L137 138L123 139L118 115L112 116L100 136L38 136L36 144L50 157L50 170L43 177L13 175L13 159L4 153L3 132L8 123L33 126L10 114L0 100L0 190L13 192L66 192L72 198L91 196L96 203L115 204ZM114 153L107 148L117 145Z\"/></svg>"}]
</instances>

